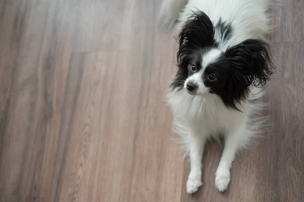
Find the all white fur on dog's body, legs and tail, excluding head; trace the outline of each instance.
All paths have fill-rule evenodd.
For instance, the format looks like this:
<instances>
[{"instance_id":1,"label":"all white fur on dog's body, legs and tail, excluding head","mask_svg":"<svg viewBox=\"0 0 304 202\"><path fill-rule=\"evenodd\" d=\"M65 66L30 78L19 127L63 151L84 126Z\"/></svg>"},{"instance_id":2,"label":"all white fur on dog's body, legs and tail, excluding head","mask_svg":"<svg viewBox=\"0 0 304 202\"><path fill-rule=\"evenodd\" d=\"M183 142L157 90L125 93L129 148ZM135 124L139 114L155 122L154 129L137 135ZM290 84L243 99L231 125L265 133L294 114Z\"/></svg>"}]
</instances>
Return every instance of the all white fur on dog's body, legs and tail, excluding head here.
<instances>
[{"instance_id":1,"label":"all white fur on dog's body, legs and tail, excluding head","mask_svg":"<svg viewBox=\"0 0 304 202\"><path fill-rule=\"evenodd\" d=\"M180 28L192 11L198 9L205 12L214 25L220 18L231 22L235 29L232 38L224 43L220 42L219 36L216 38L221 44L219 49L224 51L228 46L245 39L265 40L265 35L271 31L267 10L273 3L271 0L164 0L159 20L162 26L168 28L179 16L177 28ZM185 82L187 81L188 79ZM242 111L240 112L225 107L215 94L193 96L184 88L169 92L168 103L173 111L175 129L182 137L191 163L186 183L188 193L196 192L203 184L201 162L204 144L210 137L218 138L218 134L224 136L225 143L215 175L215 186L219 191L227 188L230 183L230 168L237 151L259 133L260 125L263 124L264 119L253 118L255 112L264 106L254 103L253 100L262 95L259 89L252 88L242 106L238 105Z\"/></svg>"}]
</instances>

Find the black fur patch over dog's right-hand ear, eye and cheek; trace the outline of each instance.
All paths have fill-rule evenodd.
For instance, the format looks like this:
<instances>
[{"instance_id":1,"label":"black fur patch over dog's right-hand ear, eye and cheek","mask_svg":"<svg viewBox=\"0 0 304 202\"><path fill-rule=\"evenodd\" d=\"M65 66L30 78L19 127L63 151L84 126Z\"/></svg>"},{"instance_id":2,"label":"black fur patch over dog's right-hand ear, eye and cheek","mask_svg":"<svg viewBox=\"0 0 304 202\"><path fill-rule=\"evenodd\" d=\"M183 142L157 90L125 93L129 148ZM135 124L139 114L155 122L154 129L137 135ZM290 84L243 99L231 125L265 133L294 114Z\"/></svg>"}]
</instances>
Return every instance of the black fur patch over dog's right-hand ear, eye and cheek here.
<instances>
[{"instance_id":1,"label":"black fur patch over dog's right-hand ear, eye and cheek","mask_svg":"<svg viewBox=\"0 0 304 202\"><path fill-rule=\"evenodd\" d=\"M261 87L275 72L269 45L258 39L247 39L232 46L203 73L205 86L217 94L226 107L238 110L237 104L249 94L249 86ZM215 74L214 82L208 75Z\"/></svg>"}]
</instances>

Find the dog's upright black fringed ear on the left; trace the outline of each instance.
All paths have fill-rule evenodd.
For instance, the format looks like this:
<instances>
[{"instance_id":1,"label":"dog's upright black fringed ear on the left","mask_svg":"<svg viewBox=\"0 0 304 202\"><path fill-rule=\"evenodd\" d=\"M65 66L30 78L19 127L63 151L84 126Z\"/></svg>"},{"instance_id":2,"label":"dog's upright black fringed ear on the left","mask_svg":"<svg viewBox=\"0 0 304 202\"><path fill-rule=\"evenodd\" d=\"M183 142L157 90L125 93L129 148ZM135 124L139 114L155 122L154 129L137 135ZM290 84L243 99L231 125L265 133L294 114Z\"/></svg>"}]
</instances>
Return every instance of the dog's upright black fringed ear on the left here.
<instances>
[{"instance_id":1,"label":"dog's upright black fringed ear on the left","mask_svg":"<svg viewBox=\"0 0 304 202\"><path fill-rule=\"evenodd\" d=\"M213 36L214 28L209 17L202 11L193 12L193 15L182 25L177 37L178 67L186 68L191 55L197 49L212 46L215 43Z\"/></svg>"}]
</instances>

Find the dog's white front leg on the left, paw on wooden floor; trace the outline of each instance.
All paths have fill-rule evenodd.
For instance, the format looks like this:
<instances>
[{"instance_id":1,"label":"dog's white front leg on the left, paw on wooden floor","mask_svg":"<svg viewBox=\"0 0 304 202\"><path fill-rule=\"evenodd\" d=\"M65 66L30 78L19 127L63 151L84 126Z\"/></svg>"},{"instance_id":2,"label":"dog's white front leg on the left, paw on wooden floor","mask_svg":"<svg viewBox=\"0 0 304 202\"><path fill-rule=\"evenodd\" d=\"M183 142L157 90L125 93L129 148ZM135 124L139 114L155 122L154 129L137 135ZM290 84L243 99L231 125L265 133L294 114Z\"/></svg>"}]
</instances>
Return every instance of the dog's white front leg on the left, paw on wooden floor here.
<instances>
[{"instance_id":1,"label":"dog's white front leg on the left, paw on wooden floor","mask_svg":"<svg viewBox=\"0 0 304 202\"><path fill-rule=\"evenodd\" d=\"M205 139L201 135L189 135L189 157L190 157L190 173L187 181L187 192L196 192L202 183L202 157L205 145Z\"/></svg>"}]
</instances>

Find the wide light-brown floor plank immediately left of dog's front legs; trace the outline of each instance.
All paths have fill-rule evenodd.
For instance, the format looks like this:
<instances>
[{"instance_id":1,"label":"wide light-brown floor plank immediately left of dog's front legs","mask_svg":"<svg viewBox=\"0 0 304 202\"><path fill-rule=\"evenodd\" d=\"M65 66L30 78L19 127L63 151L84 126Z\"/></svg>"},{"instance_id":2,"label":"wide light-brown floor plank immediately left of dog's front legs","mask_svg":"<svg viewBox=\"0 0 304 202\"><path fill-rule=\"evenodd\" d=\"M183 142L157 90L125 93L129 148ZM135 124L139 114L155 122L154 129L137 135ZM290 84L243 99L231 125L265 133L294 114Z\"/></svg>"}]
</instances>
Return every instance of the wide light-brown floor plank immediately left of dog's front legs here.
<instances>
[{"instance_id":1,"label":"wide light-brown floor plank immediately left of dog's front legs","mask_svg":"<svg viewBox=\"0 0 304 202\"><path fill-rule=\"evenodd\" d=\"M78 104L74 108L76 119L71 123L56 201L136 201L168 196L179 199L181 181L176 175L181 176L182 169L171 173L170 168L180 167L182 161L174 158L178 145L167 142L168 136L164 135L164 131L170 133L166 124L170 123L167 118L170 114L163 100L167 89L164 86L169 81L163 80L166 85L158 82L159 90L149 89L146 80L160 81L162 72L150 78L145 73L149 63L143 58L130 60L132 54L86 56ZM144 64L146 69L141 68ZM161 106L166 113L160 115L156 109ZM171 151L160 146L162 142ZM167 180L162 180L163 172L168 174Z\"/></svg>"}]
</instances>

